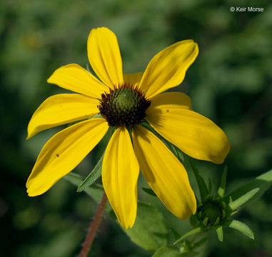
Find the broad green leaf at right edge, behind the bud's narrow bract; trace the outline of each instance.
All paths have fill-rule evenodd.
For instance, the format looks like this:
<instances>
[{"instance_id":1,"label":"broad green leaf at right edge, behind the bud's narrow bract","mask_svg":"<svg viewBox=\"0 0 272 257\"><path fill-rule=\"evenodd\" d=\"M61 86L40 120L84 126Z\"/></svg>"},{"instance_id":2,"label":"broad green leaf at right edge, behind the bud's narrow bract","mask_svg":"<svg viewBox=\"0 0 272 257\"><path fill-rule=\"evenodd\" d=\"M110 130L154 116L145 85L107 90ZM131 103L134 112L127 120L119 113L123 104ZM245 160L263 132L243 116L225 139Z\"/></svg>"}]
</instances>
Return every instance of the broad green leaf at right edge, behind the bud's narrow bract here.
<instances>
[{"instance_id":1,"label":"broad green leaf at right edge, behind the bud's narrow bract","mask_svg":"<svg viewBox=\"0 0 272 257\"><path fill-rule=\"evenodd\" d=\"M261 176L258 176L252 181L246 183L244 186L241 186L241 188L238 188L232 193L229 193L228 196L225 196L225 201L228 203L230 197L232 198L233 201L235 201L244 194L248 193L248 191L251 191L254 188L259 188L260 190L258 191L258 193L256 193L255 196L251 198L251 201L253 201L256 198L261 197L263 193L269 188L269 186L271 186L271 183L272 183L272 170L263 173Z\"/></svg>"}]
</instances>

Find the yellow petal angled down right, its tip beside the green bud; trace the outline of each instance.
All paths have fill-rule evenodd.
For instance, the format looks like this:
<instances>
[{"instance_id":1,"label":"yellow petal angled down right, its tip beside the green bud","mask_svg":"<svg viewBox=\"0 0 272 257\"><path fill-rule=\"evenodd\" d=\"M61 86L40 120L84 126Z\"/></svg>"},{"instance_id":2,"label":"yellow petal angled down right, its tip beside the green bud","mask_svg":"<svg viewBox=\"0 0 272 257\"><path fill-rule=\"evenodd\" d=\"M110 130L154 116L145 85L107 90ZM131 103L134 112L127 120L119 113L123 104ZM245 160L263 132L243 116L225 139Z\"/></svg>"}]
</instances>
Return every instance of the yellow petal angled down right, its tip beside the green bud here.
<instances>
[{"instance_id":1,"label":"yellow petal angled down right, its tip beside the green bud","mask_svg":"<svg viewBox=\"0 0 272 257\"><path fill-rule=\"evenodd\" d=\"M183 165L156 136L136 126L134 151L149 186L171 213L188 218L196 212L196 198Z\"/></svg>"}]
</instances>

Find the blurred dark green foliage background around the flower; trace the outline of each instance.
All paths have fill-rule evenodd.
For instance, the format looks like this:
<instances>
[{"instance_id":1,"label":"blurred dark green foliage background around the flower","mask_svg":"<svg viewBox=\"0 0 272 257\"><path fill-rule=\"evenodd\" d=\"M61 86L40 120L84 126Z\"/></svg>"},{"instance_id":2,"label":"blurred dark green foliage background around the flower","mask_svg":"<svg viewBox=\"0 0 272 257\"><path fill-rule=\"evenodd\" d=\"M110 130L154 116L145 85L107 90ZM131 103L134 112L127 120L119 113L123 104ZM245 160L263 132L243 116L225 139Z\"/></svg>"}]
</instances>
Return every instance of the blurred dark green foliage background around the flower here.
<instances>
[{"instance_id":1,"label":"blurred dark green foliage background around the flower","mask_svg":"<svg viewBox=\"0 0 272 257\"><path fill-rule=\"evenodd\" d=\"M260 13L231 12L231 6L263 7ZM107 26L118 36L125 73L143 71L161 49L176 41L198 42L199 56L181 86L193 109L208 116L228 135L231 152L228 188L268 171L272 164L272 4L256 1L173 0L12 0L0 3L0 256L76 256L96 205L61 180L35 198L25 182L44 143L57 129L26 141L31 114L46 97L64 92L46 79L64 64L88 63L89 31ZM75 169L91 171L104 143ZM215 185L223 165L196 161ZM188 169L193 188L195 181ZM140 178L140 181L143 181ZM256 240L226 230L223 243L215 233L201 256L272 256L272 190L241 211ZM155 198L167 222L182 232L187 221L171 216ZM109 218L99 229L92 256L151 256L131 243Z\"/></svg>"}]
</instances>

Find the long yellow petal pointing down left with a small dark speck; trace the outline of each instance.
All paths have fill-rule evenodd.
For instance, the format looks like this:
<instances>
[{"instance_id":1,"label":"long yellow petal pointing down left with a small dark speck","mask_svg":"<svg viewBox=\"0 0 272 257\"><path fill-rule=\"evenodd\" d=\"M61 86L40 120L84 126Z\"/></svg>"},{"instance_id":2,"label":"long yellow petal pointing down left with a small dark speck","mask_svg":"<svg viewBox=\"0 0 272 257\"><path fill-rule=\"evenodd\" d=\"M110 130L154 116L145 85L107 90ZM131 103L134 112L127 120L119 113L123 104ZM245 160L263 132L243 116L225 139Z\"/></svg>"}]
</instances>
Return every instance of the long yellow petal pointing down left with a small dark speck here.
<instances>
[{"instance_id":1,"label":"long yellow petal pointing down left with a small dark speck","mask_svg":"<svg viewBox=\"0 0 272 257\"><path fill-rule=\"evenodd\" d=\"M29 196L46 192L72 171L103 138L109 126L104 119L91 119L56 133L44 145L26 182Z\"/></svg>"}]
</instances>

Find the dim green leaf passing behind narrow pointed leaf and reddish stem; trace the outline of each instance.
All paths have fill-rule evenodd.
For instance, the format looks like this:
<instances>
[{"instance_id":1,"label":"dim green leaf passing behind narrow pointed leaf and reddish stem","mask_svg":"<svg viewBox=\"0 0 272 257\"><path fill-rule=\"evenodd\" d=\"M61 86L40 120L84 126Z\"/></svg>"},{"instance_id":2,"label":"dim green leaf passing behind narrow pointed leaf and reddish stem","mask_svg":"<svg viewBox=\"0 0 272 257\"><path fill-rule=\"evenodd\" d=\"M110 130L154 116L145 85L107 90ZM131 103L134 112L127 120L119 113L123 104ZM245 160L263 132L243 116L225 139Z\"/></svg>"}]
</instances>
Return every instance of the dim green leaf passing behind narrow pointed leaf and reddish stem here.
<instances>
[{"instance_id":1,"label":"dim green leaf passing behind narrow pointed leaf and reddish stem","mask_svg":"<svg viewBox=\"0 0 272 257\"><path fill-rule=\"evenodd\" d=\"M84 181L84 178L76 173L70 172L68 173L66 176L64 176L64 178L66 179L66 181L69 181L70 183L72 183L75 186L79 186L79 184L82 183L82 181ZM91 198L96 202L96 203L100 203L101 198L104 194L104 188L101 185L98 184L92 184L89 188L85 188L84 192L86 192L89 196L91 196ZM106 211L111 211L111 205L109 204L109 202L106 204Z\"/></svg>"}]
</instances>

